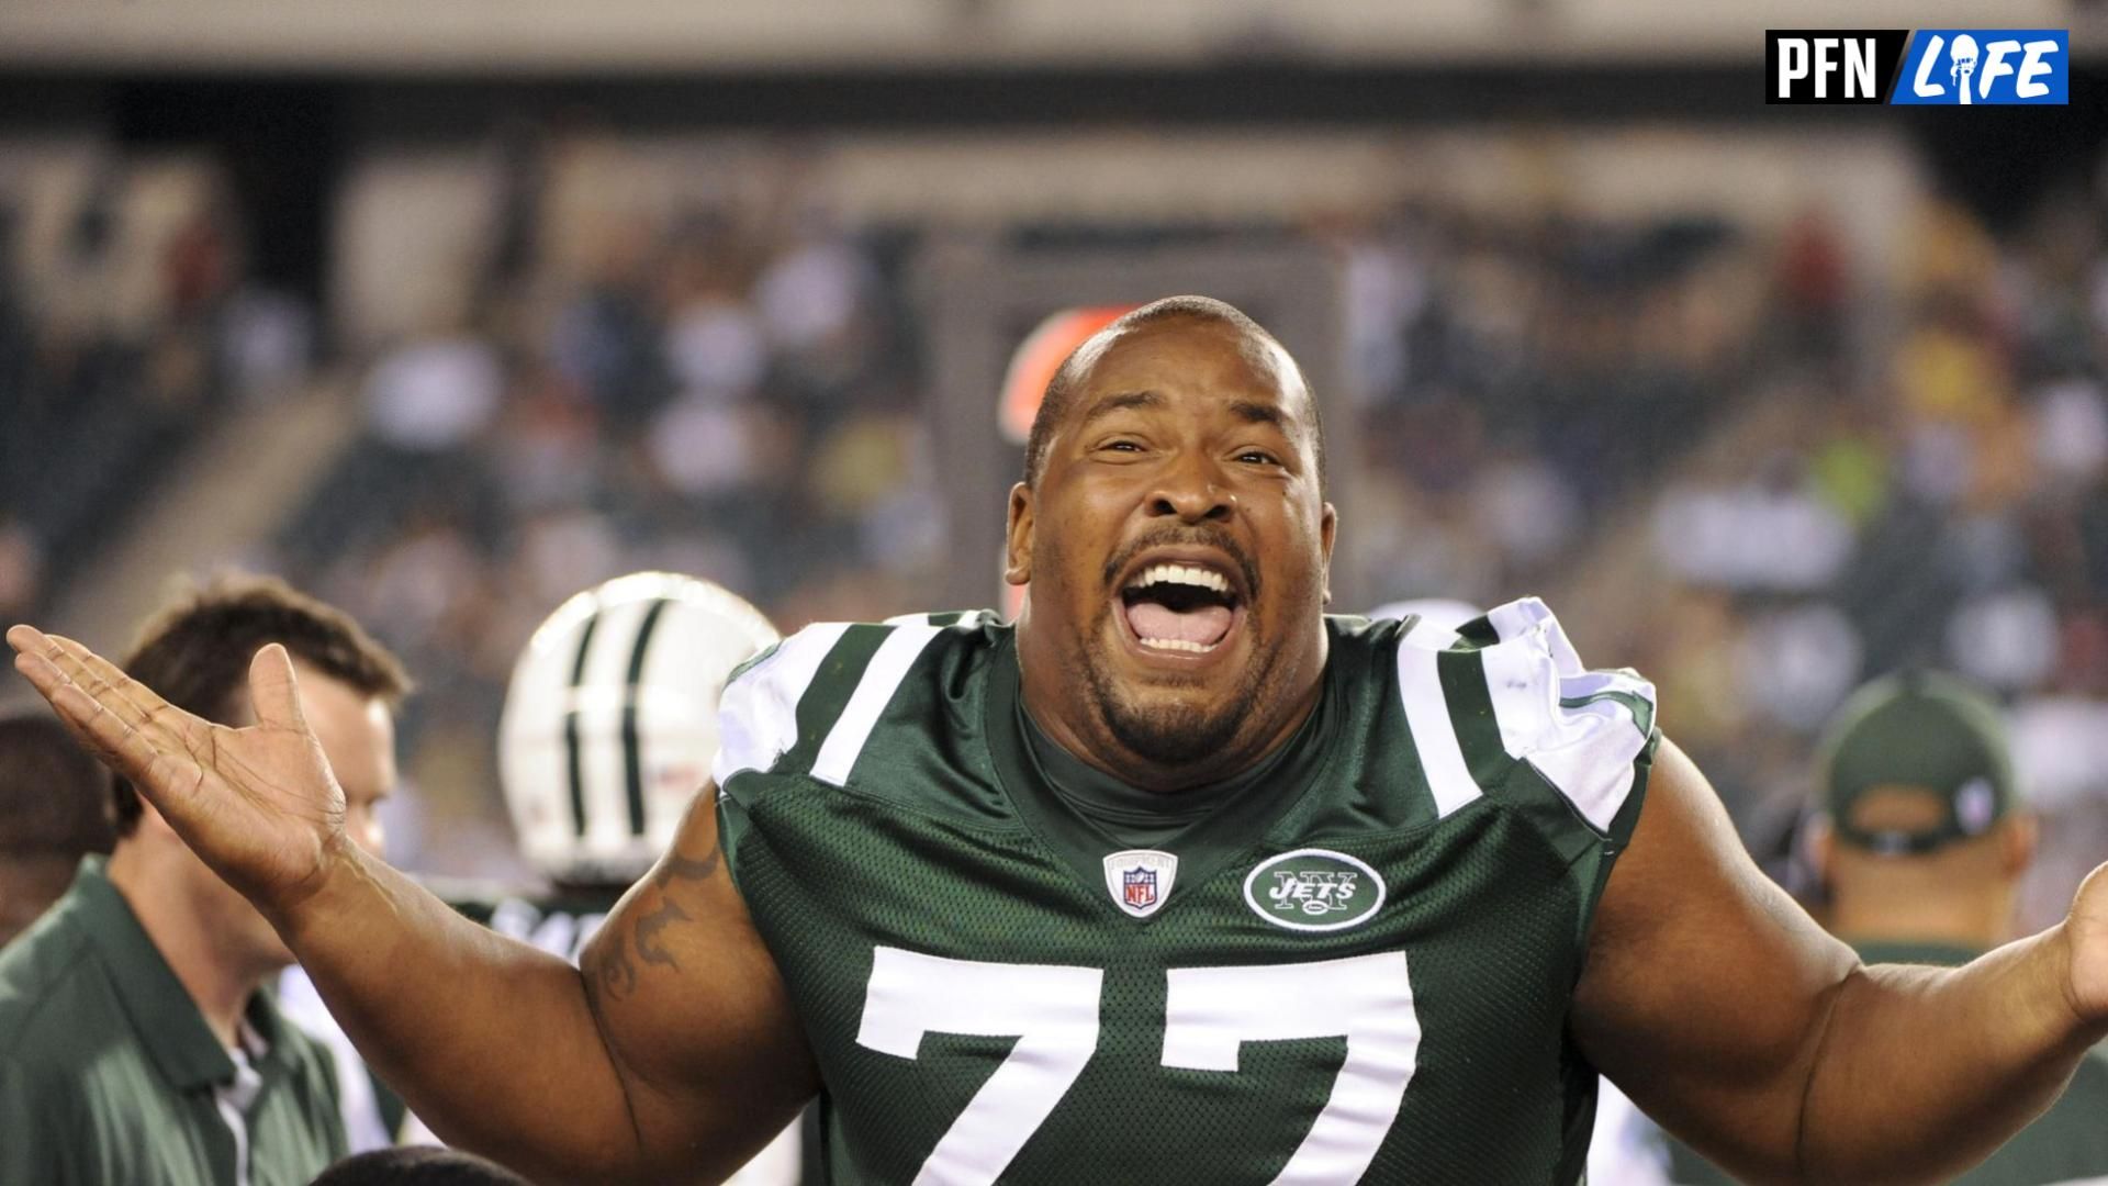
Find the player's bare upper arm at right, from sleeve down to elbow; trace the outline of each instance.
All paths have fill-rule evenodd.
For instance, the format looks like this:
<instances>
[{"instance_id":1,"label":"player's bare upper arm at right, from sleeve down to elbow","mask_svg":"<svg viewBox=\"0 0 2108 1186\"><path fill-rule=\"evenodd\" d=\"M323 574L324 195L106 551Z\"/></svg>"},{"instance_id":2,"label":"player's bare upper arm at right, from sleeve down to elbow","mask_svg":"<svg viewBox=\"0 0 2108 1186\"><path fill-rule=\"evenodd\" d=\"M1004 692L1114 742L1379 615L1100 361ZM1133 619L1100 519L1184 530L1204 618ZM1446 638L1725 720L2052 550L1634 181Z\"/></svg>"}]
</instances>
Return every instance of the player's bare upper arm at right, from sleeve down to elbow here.
<instances>
[{"instance_id":1,"label":"player's bare upper arm at right, from sleeve down to elbow","mask_svg":"<svg viewBox=\"0 0 2108 1186\"><path fill-rule=\"evenodd\" d=\"M1853 967L1663 743L1575 998L1575 1038L1596 1068L1722 1165L1792 1175L1809 1072Z\"/></svg>"}]
</instances>

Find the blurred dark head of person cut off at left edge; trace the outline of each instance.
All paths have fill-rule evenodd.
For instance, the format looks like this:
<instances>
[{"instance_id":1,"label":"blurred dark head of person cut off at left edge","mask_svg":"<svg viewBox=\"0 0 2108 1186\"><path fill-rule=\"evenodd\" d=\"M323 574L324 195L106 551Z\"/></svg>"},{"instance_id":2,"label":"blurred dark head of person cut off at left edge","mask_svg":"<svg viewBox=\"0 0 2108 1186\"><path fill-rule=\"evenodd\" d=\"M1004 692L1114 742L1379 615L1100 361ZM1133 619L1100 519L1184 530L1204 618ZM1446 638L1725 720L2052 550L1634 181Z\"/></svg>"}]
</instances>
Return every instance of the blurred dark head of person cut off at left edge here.
<instances>
[{"instance_id":1,"label":"blurred dark head of person cut off at left edge","mask_svg":"<svg viewBox=\"0 0 2108 1186\"><path fill-rule=\"evenodd\" d=\"M0 715L0 948L110 853L110 772L44 711Z\"/></svg>"}]
</instances>

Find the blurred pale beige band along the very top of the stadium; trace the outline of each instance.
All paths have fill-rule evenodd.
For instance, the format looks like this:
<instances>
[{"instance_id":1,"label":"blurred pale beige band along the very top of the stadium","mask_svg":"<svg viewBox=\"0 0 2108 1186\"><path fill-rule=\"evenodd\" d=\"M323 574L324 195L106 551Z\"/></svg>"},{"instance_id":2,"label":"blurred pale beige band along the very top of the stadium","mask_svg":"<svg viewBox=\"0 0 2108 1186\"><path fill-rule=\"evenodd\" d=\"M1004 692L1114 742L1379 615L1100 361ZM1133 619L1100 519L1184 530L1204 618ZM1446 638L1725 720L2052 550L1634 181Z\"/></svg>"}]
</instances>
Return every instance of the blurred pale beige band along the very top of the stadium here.
<instances>
[{"instance_id":1,"label":"blurred pale beige band along the very top of the stadium","mask_svg":"<svg viewBox=\"0 0 2108 1186\"><path fill-rule=\"evenodd\" d=\"M1853 27L2066 27L2064 0L1859 0ZM1836 4L1777 0L1771 27L1836 27ZM1760 27L1760 25L1756 25ZM2081 27L2074 27L2074 46ZM2097 30L2095 30L2097 32ZM694 70L1195 63L1296 55L1330 63L1748 57L1752 21L1661 0L516 0L489 8L369 0L329 11L270 0L84 0L0 21L8 59L70 65L405 70ZM2097 44L2097 42L2095 42ZM1758 46L1758 57L1762 49Z\"/></svg>"}]
</instances>

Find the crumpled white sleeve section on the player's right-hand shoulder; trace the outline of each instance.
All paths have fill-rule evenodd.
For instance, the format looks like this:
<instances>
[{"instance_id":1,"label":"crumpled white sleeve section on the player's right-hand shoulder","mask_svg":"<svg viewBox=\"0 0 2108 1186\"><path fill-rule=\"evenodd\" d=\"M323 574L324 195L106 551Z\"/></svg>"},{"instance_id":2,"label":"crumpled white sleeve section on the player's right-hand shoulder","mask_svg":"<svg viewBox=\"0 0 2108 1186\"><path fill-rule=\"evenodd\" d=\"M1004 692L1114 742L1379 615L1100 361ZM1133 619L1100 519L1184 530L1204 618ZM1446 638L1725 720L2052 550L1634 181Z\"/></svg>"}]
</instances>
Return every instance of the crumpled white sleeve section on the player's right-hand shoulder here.
<instances>
[{"instance_id":1,"label":"crumpled white sleeve section on the player's right-hand shoulder","mask_svg":"<svg viewBox=\"0 0 2108 1186\"><path fill-rule=\"evenodd\" d=\"M1581 817L1608 831L1632 796L1632 762L1646 728L1606 692L1655 703L1655 686L1623 671L1589 671L1551 610L1537 597L1486 614L1501 642L1480 650L1501 747L1528 762ZM1581 701L1566 707L1560 701Z\"/></svg>"}]
</instances>

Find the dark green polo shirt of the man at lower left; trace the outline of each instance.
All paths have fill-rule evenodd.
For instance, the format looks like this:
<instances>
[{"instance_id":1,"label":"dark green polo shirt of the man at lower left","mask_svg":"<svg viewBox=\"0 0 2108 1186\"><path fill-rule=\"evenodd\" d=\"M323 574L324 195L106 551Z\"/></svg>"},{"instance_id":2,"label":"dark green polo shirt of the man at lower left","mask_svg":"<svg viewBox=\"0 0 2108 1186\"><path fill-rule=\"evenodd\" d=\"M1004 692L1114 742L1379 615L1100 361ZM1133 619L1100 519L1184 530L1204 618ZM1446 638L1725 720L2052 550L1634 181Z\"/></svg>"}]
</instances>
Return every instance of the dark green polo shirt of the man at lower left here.
<instances>
[{"instance_id":1,"label":"dark green polo shirt of the man at lower left","mask_svg":"<svg viewBox=\"0 0 2108 1186\"><path fill-rule=\"evenodd\" d=\"M344 1156L329 1055L266 994L249 1026L249 1186L304 1186ZM0 1182L232 1186L217 1089L234 1057L169 971L103 859L0 952Z\"/></svg>"}]
</instances>

